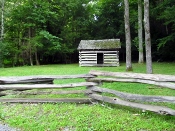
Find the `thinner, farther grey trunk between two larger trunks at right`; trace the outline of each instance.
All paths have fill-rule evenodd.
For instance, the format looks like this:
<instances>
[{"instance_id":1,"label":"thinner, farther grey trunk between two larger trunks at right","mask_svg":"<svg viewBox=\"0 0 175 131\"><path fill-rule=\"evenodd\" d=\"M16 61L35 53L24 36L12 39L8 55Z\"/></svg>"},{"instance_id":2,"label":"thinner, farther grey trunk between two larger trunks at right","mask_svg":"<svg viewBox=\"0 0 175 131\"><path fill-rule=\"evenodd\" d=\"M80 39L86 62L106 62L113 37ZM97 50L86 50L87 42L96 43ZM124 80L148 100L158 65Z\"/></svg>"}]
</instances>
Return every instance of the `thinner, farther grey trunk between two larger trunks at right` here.
<instances>
[{"instance_id":1,"label":"thinner, farther grey trunk between two larger trunks at right","mask_svg":"<svg viewBox=\"0 0 175 131\"><path fill-rule=\"evenodd\" d=\"M142 0L138 0L138 38L139 38L139 63L144 62L143 57L143 25L142 25Z\"/></svg>"}]
</instances>

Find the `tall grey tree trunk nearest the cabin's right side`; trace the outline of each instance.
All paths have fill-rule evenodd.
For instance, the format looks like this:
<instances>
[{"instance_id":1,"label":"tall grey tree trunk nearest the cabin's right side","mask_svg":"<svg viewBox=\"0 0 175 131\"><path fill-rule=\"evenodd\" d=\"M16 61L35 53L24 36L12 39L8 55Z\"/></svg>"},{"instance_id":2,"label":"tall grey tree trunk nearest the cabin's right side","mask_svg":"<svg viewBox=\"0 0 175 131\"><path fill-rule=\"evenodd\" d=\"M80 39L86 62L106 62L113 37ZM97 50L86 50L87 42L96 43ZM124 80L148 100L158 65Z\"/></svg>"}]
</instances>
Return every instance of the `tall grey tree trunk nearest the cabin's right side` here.
<instances>
[{"instance_id":1,"label":"tall grey tree trunk nearest the cabin's right side","mask_svg":"<svg viewBox=\"0 0 175 131\"><path fill-rule=\"evenodd\" d=\"M130 24L129 24L129 2L124 0L125 4L125 37L126 37L126 71L132 71L131 64L131 35L130 35Z\"/></svg>"}]
</instances>

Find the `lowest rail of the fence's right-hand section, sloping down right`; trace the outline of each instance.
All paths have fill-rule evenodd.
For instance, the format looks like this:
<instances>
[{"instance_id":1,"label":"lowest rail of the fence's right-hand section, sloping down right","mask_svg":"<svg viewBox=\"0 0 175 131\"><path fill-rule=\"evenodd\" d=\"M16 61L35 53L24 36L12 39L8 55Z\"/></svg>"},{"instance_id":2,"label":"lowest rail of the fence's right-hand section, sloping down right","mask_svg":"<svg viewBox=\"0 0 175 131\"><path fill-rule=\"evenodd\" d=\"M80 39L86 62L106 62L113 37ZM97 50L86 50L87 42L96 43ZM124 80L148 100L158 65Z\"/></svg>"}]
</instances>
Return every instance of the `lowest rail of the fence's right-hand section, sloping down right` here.
<instances>
[{"instance_id":1,"label":"lowest rail of the fence's right-hand section, sloping down right","mask_svg":"<svg viewBox=\"0 0 175 131\"><path fill-rule=\"evenodd\" d=\"M117 105L128 106L128 107L138 108L138 109L142 109L142 110L152 111L152 112L162 114L162 115L175 116L175 110L167 108L167 107L128 102L128 101L121 100L119 98L107 97L107 96L102 96L102 95L98 95L98 94L90 94L89 97L92 99L98 100L98 101L107 102L107 103L111 103L111 104L117 104Z\"/></svg>"}]
</instances>

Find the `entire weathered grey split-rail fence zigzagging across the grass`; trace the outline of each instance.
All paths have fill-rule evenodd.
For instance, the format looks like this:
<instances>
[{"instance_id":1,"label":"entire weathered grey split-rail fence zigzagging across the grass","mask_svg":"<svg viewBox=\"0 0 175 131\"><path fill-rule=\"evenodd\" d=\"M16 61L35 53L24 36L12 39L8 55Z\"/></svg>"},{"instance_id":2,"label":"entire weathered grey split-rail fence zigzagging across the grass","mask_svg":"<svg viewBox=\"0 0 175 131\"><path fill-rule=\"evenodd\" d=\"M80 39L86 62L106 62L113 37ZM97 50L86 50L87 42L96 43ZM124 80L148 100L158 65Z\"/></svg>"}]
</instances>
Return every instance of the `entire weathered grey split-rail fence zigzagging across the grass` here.
<instances>
[{"instance_id":1,"label":"entire weathered grey split-rail fence zigzagging across the grass","mask_svg":"<svg viewBox=\"0 0 175 131\"><path fill-rule=\"evenodd\" d=\"M54 84L54 80L84 79L85 82ZM0 77L0 102L8 103L92 103L106 102L132 108L152 111L164 115L174 115L175 110L139 102L166 102L175 104L174 96L153 96L125 93L117 90L101 87L104 82L128 82L144 83L160 86L162 88L175 89L175 76L141 73L121 73L106 71L90 71L81 75L45 75L45 76L20 76ZM81 87L79 89L78 87ZM74 90L67 90L73 88ZM78 89L77 89L78 88ZM9 92L10 91L10 92ZM110 93L116 97L105 96ZM83 98L31 98L31 95L50 94L84 94ZM22 97L30 95L30 98L9 98L10 96ZM136 101L136 102L131 102Z\"/></svg>"}]
</instances>

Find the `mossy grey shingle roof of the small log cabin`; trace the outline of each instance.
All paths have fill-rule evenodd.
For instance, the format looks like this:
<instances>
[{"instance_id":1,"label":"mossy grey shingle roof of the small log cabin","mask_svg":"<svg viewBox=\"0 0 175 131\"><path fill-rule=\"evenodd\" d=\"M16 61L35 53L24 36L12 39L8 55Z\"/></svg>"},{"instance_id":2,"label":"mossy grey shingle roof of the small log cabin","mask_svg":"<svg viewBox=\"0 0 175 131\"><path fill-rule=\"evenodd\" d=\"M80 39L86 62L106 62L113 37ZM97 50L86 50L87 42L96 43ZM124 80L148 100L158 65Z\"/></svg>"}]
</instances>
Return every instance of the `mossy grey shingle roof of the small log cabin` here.
<instances>
[{"instance_id":1,"label":"mossy grey shingle roof of the small log cabin","mask_svg":"<svg viewBox=\"0 0 175 131\"><path fill-rule=\"evenodd\" d=\"M82 49L118 49L121 48L120 39L104 39L104 40L81 40L78 50Z\"/></svg>"}]
</instances>

